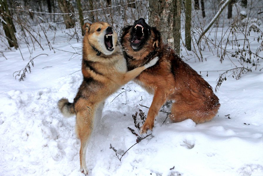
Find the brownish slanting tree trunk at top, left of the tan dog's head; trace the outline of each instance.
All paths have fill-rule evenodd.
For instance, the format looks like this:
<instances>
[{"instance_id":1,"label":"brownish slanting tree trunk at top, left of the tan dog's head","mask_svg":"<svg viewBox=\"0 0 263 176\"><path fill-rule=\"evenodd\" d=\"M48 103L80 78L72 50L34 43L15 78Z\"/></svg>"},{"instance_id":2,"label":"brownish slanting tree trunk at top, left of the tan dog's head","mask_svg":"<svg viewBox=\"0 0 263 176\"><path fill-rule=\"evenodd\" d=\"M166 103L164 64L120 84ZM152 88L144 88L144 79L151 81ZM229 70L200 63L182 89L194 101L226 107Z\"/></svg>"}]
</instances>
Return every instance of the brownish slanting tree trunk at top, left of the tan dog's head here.
<instances>
[{"instance_id":1,"label":"brownish slanting tree trunk at top, left of the tan dog's head","mask_svg":"<svg viewBox=\"0 0 263 176\"><path fill-rule=\"evenodd\" d=\"M62 13L74 13L73 6L66 0L58 0L58 6ZM66 29L75 27L73 14L63 15Z\"/></svg>"}]
</instances>

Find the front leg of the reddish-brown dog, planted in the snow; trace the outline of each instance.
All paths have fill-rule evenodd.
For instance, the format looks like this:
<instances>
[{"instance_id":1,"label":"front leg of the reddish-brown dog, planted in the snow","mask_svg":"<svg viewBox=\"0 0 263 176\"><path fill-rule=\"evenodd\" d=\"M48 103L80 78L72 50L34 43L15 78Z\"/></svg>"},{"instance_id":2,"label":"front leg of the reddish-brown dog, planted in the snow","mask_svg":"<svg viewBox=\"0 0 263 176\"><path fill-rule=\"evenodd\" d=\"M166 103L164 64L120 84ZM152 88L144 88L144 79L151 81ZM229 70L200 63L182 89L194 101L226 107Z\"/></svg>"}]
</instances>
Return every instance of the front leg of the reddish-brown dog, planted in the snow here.
<instances>
[{"instance_id":1,"label":"front leg of the reddish-brown dog, planted in the snow","mask_svg":"<svg viewBox=\"0 0 263 176\"><path fill-rule=\"evenodd\" d=\"M141 134L146 133L149 129L153 130L155 116L158 115L158 112L160 108L163 106L163 104L165 103L165 101L166 101L165 91L161 89L155 90L154 96L153 96L153 102L148 111L147 118L143 126L140 128Z\"/></svg>"}]
</instances>

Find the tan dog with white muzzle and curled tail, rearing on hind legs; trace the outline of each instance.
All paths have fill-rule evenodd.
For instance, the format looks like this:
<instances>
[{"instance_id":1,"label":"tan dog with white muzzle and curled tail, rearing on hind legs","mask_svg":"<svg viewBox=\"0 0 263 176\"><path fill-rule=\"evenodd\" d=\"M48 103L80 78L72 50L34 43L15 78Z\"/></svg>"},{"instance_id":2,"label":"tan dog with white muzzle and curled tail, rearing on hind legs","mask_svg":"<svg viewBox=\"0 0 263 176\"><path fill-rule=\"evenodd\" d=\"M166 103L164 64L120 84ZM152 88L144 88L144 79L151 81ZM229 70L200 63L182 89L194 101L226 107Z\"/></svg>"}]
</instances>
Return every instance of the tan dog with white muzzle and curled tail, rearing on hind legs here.
<instances>
[{"instance_id":1,"label":"tan dog with white muzzle and curled tail, rearing on hind legs","mask_svg":"<svg viewBox=\"0 0 263 176\"><path fill-rule=\"evenodd\" d=\"M148 64L127 72L123 51L117 43L117 34L108 23L86 23L83 39L83 82L73 103L62 98L58 107L65 116L76 115L76 135L81 141L81 172L88 174L86 166L87 142L93 131L96 118L101 118L105 99L128 83L143 70L154 65L158 58Z\"/></svg>"}]
</instances>

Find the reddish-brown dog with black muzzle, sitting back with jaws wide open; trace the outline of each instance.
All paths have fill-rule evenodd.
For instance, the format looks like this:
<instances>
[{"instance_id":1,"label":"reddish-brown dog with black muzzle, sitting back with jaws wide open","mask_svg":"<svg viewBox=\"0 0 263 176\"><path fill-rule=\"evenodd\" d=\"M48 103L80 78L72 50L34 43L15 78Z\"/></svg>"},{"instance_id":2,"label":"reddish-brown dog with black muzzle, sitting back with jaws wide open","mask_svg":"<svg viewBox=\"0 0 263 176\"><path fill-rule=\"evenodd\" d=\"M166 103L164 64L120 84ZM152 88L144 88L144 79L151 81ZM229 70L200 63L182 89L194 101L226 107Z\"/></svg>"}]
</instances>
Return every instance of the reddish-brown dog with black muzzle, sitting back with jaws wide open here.
<instances>
[{"instance_id":1,"label":"reddish-brown dog with black muzzle, sitting back with jaws wide open","mask_svg":"<svg viewBox=\"0 0 263 176\"><path fill-rule=\"evenodd\" d=\"M163 45L160 32L148 26L144 19L123 28L121 45L126 52L128 70L149 62L155 56L159 57L156 65L135 78L149 93L154 94L141 133L153 129L155 116L167 100L173 100L172 122L192 119L195 123L202 123L217 114L220 103L212 87L173 49Z\"/></svg>"}]
</instances>

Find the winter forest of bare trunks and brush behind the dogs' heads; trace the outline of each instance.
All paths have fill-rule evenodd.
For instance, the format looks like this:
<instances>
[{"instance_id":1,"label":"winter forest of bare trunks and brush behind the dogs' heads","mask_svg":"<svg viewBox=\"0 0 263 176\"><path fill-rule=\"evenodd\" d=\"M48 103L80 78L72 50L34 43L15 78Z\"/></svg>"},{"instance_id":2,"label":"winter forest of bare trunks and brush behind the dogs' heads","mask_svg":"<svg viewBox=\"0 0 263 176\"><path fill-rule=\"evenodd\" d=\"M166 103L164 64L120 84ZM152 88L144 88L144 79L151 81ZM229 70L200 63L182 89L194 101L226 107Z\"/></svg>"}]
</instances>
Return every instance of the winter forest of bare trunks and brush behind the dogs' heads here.
<instances>
[{"instance_id":1,"label":"winter forest of bare trunks and brush behind the dogs' heads","mask_svg":"<svg viewBox=\"0 0 263 176\"><path fill-rule=\"evenodd\" d=\"M239 79L242 73L257 69L257 62L261 58L259 56L259 52L262 51L260 27L263 11L260 0L211 0L205 3L203 0L200 2L198 0L1 0L0 2L1 26L4 29L0 33L0 54L4 58L6 58L5 53L11 51L12 47L21 50L21 43L26 44L31 55L35 47L44 50L44 43L48 45L50 51L55 52L56 49L52 44L56 39L57 30L71 28L72 30L69 31L72 32L68 32L67 39L81 42L84 35L81 27L84 22L105 21L120 34L122 27L132 24L141 17L148 19L151 26L158 27L163 41L169 43L178 55L187 60L192 57L199 61L205 60L202 55L202 51L205 50L220 58L220 62L224 59L239 60L239 64L231 69L236 79ZM211 28L214 31L207 31ZM52 39L48 39L47 32L53 32ZM248 39L251 32L253 32L253 41ZM242 39L239 39L240 37ZM258 43L255 50L250 47L253 42ZM232 49L228 46L232 46ZM80 48L75 49L73 55L81 54ZM183 49L186 50L186 55L181 52ZM23 57L22 52L20 53L23 60L27 59ZM29 65L26 68L29 69ZM23 80L26 76L23 73L15 75L19 80ZM216 88L221 85L224 78L225 73L220 75Z\"/></svg>"}]
</instances>

